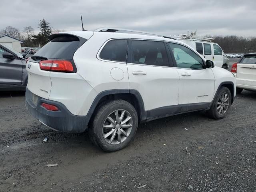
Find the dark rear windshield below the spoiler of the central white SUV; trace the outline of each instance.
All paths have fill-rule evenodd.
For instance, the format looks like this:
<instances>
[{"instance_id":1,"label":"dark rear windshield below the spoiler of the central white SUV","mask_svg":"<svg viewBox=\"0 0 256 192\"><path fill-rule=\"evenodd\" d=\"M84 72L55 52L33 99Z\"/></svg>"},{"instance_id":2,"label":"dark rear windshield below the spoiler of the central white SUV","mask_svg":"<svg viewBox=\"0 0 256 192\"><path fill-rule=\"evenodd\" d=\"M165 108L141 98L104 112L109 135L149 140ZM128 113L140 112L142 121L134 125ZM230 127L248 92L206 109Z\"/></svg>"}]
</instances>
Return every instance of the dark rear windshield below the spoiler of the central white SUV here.
<instances>
[{"instance_id":1,"label":"dark rear windshield below the spoiler of the central white SUV","mask_svg":"<svg viewBox=\"0 0 256 192\"><path fill-rule=\"evenodd\" d=\"M73 59L79 43L79 38L76 36L59 36L48 42L34 56L43 56L48 59Z\"/></svg>"}]
</instances>

